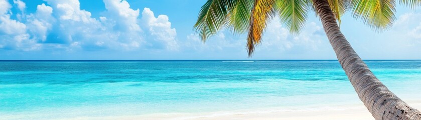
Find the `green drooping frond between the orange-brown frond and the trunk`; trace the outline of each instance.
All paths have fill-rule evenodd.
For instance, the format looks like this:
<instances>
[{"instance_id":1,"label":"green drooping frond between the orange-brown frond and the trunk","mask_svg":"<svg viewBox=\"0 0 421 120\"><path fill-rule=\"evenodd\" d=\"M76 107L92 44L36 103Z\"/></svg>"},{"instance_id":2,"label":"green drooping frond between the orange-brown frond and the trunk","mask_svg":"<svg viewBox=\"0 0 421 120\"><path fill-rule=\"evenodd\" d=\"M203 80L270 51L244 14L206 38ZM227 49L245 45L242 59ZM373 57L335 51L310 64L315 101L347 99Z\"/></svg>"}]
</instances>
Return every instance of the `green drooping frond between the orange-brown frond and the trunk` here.
<instances>
[{"instance_id":1,"label":"green drooping frond between the orange-brown frond and the trunk","mask_svg":"<svg viewBox=\"0 0 421 120\"><path fill-rule=\"evenodd\" d=\"M307 20L309 0L277 0L276 10L282 22L292 33L298 33Z\"/></svg>"}]
</instances>

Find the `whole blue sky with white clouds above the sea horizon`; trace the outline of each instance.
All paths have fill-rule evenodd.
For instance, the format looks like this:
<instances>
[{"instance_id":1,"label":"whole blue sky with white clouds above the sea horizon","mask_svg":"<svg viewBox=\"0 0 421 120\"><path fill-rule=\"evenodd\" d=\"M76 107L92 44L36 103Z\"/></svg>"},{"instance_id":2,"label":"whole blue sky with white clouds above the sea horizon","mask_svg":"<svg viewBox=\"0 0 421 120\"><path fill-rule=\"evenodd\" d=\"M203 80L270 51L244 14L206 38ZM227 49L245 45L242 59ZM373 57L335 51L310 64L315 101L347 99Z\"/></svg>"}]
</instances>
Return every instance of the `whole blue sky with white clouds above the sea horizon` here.
<instances>
[{"instance_id":1,"label":"whole blue sky with white clouds above the sea horizon","mask_svg":"<svg viewBox=\"0 0 421 120\"><path fill-rule=\"evenodd\" d=\"M206 0L0 0L0 59L250 59L245 35L222 30L202 43L193 31ZM363 59L421 59L421 12L398 5L376 32L346 13L341 30ZM292 35L270 21L252 59L336 59L309 13Z\"/></svg>"}]
</instances>

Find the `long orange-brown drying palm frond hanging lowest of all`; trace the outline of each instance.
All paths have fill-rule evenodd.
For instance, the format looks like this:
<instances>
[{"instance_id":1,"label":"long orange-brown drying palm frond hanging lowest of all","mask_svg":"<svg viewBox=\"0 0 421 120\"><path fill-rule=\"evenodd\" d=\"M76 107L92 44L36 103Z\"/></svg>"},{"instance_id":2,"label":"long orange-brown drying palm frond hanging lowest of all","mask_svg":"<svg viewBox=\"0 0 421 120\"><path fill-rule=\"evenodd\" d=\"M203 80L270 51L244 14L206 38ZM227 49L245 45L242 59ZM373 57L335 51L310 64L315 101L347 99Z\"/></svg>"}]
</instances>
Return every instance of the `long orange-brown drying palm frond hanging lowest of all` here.
<instances>
[{"instance_id":1,"label":"long orange-brown drying palm frond hanging lowest of all","mask_svg":"<svg viewBox=\"0 0 421 120\"><path fill-rule=\"evenodd\" d=\"M250 26L247 35L248 57L254 52L254 45L260 43L263 30L273 13L274 0L255 0L250 14Z\"/></svg>"}]
</instances>

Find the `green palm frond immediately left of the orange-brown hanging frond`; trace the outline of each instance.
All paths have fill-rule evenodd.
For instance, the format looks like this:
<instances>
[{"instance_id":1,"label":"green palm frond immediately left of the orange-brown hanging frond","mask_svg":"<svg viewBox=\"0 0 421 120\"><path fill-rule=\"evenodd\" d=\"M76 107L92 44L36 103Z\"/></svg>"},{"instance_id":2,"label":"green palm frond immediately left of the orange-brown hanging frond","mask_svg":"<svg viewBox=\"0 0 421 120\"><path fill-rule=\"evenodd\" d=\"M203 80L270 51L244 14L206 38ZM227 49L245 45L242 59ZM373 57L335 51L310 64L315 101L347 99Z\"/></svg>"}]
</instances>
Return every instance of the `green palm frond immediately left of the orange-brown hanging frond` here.
<instances>
[{"instance_id":1,"label":"green palm frond immediately left of the orange-brown hanging frond","mask_svg":"<svg viewBox=\"0 0 421 120\"><path fill-rule=\"evenodd\" d=\"M233 33L244 33L247 30L253 3L253 0L236 0L234 7L229 10L227 27Z\"/></svg>"}]
</instances>

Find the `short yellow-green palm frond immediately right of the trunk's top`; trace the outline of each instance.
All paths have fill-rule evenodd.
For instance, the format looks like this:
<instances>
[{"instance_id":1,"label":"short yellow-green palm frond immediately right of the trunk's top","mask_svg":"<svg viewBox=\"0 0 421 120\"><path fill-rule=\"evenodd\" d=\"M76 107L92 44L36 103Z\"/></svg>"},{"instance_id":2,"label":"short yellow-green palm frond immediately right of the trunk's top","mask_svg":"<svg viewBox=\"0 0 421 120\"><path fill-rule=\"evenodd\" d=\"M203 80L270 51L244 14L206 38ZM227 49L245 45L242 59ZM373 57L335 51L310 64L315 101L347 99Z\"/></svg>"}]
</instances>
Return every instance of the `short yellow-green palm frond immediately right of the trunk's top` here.
<instances>
[{"instance_id":1,"label":"short yellow-green palm frond immediately right of the trunk's top","mask_svg":"<svg viewBox=\"0 0 421 120\"><path fill-rule=\"evenodd\" d=\"M328 2L335 18L341 24L341 16L348 10L349 0L328 0Z\"/></svg>"}]
</instances>

